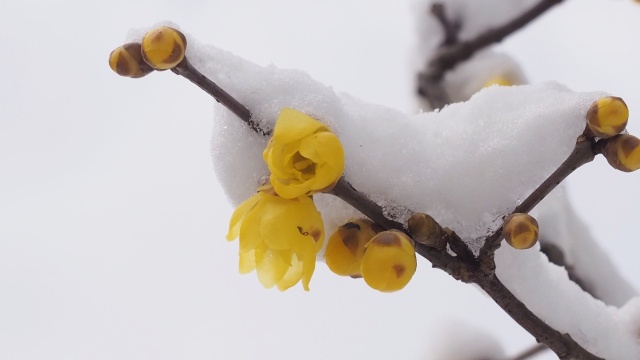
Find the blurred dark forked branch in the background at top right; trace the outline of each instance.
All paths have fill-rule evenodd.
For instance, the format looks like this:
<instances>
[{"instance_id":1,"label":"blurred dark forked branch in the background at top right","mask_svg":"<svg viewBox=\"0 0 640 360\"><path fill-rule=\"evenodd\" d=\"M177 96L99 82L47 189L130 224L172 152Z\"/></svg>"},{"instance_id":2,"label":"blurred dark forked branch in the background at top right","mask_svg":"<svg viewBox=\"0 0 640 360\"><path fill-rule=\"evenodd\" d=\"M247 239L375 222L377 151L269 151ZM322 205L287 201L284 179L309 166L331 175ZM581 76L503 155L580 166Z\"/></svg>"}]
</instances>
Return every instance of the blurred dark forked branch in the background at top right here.
<instances>
[{"instance_id":1,"label":"blurred dark forked branch in the background at top right","mask_svg":"<svg viewBox=\"0 0 640 360\"><path fill-rule=\"evenodd\" d=\"M446 91L441 84L442 78L447 71L453 69L460 62L469 59L476 51L502 41L505 37L520 30L562 1L563 0L541 0L534 7L506 24L491 28L467 41L447 44L446 36L449 30L443 25L445 42L438 48L436 56L429 61L427 69L418 74L418 94L425 97L434 109L441 109L449 103ZM441 11L441 13L444 14L444 11ZM443 20L440 19L441 14L436 13L435 15L441 24L450 23L448 20L443 22Z\"/></svg>"}]
</instances>

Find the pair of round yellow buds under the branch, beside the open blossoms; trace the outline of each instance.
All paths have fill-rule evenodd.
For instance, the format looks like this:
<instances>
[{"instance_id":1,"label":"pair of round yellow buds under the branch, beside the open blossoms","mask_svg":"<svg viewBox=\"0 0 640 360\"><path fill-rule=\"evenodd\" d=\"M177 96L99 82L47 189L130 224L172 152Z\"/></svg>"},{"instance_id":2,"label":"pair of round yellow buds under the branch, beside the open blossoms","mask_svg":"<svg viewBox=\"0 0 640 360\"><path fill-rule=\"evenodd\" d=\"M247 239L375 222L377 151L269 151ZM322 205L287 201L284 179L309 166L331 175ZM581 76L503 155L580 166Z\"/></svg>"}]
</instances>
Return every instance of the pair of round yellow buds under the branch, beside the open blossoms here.
<instances>
[{"instance_id":1,"label":"pair of round yellow buds under the branch, beside the open blossoms","mask_svg":"<svg viewBox=\"0 0 640 360\"><path fill-rule=\"evenodd\" d=\"M369 219L340 226L329 238L324 256L334 273L361 277L382 292L404 288L416 272L413 240L400 231L382 231Z\"/></svg>"}]
</instances>

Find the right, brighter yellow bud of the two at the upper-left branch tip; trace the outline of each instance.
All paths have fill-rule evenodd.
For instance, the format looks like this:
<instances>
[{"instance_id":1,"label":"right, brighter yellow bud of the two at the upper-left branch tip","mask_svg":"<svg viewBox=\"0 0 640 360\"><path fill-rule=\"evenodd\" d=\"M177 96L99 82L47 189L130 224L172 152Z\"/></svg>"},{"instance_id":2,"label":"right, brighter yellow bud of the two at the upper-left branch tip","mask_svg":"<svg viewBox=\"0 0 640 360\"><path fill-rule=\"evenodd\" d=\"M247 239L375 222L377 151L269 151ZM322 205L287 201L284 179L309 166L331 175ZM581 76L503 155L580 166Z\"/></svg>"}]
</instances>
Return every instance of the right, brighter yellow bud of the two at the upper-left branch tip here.
<instances>
[{"instance_id":1,"label":"right, brighter yellow bud of the two at the upper-left branch tip","mask_svg":"<svg viewBox=\"0 0 640 360\"><path fill-rule=\"evenodd\" d=\"M184 34L167 26L151 30L142 38L142 58L157 70L176 67L184 59L186 49Z\"/></svg>"}]
</instances>

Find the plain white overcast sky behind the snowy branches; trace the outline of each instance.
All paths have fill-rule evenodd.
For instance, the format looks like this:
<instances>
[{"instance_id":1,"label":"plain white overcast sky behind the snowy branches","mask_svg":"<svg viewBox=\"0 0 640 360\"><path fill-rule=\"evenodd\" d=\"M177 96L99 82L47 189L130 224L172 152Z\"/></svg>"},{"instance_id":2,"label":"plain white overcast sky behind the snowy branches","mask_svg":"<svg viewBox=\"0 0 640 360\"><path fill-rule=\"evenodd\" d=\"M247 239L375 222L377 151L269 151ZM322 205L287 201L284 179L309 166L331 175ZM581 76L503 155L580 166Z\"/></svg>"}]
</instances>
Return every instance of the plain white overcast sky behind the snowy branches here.
<instances>
[{"instance_id":1,"label":"plain white overcast sky behind the snowy branches","mask_svg":"<svg viewBox=\"0 0 640 360\"><path fill-rule=\"evenodd\" d=\"M412 111L411 4L2 2L0 359L419 359L460 322L508 353L532 344L490 299L422 260L391 295L323 264L309 293L239 275L209 151L222 110L170 72L131 80L107 64L129 29L170 20L259 64ZM631 0L567 0L501 48L533 82L623 97L640 134L639 17ZM568 181L638 289L639 176L597 159Z\"/></svg>"}]
</instances>

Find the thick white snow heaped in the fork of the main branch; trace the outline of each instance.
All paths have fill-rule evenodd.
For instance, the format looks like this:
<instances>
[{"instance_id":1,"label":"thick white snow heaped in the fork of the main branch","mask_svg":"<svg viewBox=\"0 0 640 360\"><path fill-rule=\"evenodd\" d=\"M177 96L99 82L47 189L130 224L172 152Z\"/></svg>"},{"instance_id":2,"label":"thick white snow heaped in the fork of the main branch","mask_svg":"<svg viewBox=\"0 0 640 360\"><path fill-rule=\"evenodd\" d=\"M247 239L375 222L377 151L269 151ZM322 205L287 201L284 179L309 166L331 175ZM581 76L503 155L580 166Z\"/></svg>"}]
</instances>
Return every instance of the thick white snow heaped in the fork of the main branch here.
<instances>
[{"instance_id":1,"label":"thick white snow heaped in the fork of the main branch","mask_svg":"<svg viewBox=\"0 0 640 360\"><path fill-rule=\"evenodd\" d=\"M143 30L132 32L141 38ZM235 96L265 129L283 107L326 123L341 139L345 176L404 221L430 214L473 251L570 154L601 92L575 93L557 83L490 87L440 112L407 115L365 103L299 70L258 66L188 38L193 65ZM268 175L267 139L222 107L215 112L212 154L230 201L251 196ZM326 234L357 214L338 200L319 200Z\"/></svg>"}]
</instances>

